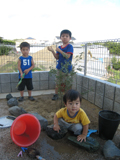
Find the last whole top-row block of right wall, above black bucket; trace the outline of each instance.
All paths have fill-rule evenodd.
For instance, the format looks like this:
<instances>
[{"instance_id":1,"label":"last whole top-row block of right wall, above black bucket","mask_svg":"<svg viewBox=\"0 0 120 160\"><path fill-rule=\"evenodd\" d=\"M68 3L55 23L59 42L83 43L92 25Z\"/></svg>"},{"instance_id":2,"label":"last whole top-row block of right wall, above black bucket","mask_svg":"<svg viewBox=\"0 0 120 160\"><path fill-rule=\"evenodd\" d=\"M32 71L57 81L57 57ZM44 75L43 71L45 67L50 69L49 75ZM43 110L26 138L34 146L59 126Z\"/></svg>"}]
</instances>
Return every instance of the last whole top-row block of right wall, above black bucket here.
<instances>
[{"instance_id":1,"label":"last whole top-row block of right wall, above black bucket","mask_svg":"<svg viewBox=\"0 0 120 160\"><path fill-rule=\"evenodd\" d=\"M105 84L105 97L113 100L114 95L115 95L115 87Z\"/></svg>"}]
</instances>

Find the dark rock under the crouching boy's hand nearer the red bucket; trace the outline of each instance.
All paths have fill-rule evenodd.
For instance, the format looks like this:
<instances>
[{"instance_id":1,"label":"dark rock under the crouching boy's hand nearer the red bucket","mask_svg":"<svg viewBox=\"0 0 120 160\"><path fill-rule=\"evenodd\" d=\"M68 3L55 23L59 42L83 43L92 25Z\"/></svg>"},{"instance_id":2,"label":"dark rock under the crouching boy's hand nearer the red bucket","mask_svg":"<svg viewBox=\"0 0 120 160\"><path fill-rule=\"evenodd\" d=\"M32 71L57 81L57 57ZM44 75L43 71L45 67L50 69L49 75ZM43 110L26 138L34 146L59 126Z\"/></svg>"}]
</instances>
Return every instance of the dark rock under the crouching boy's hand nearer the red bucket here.
<instances>
[{"instance_id":1,"label":"dark rock under the crouching boy's hand nearer the red bucket","mask_svg":"<svg viewBox=\"0 0 120 160\"><path fill-rule=\"evenodd\" d=\"M54 140L58 140L58 139L63 138L66 135L66 133L68 132L67 128L65 128L63 126L60 126L60 129L61 130L59 131L59 133L57 131L54 131L53 124L52 124L52 125L47 126L46 133L50 138L52 138Z\"/></svg>"}]
</instances>

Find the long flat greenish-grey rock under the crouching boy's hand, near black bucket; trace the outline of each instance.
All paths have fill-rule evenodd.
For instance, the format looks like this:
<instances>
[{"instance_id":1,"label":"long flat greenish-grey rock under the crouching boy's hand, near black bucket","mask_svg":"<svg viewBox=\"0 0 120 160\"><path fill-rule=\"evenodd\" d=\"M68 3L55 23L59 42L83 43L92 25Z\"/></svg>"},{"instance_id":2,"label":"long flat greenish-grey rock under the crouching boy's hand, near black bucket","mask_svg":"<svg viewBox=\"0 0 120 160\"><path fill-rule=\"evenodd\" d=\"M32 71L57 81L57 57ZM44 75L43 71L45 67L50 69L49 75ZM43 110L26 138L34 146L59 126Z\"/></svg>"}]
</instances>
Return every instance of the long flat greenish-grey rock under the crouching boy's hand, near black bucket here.
<instances>
[{"instance_id":1,"label":"long flat greenish-grey rock under the crouching boy's hand, near black bucket","mask_svg":"<svg viewBox=\"0 0 120 160\"><path fill-rule=\"evenodd\" d=\"M84 148L89 152L95 152L100 148L100 144L98 143L98 141L96 141L92 137L87 137L86 142L77 141L77 137L75 136L69 136L68 140L70 140L74 145Z\"/></svg>"}]
</instances>

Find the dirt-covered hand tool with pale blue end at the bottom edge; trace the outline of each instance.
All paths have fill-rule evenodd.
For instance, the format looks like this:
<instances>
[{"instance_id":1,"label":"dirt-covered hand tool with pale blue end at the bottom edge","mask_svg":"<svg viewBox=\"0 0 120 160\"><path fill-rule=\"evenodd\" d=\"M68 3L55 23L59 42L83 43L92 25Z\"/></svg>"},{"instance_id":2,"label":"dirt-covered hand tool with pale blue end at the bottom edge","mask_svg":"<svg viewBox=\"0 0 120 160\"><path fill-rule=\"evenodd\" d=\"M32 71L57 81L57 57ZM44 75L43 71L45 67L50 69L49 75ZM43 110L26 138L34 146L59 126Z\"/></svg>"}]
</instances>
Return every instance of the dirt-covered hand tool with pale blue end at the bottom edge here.
<instances>
[{"instance_id":1,"label":"dirt-covered hand tool with pale blue end at the bottom edge","mask_svg":"<svg viewBox=\"0 0 120 160\"><path fill-rule=\"evenodd\" d=\"M28 155L30 158L37 158L38 160L45 160L44 158L42 158L42 157L40 156L40 152L39 152L37 149L35 149L35 148L28 148L28 149L26 150L26 152L27 152L27 155Z\"/></svg>"}]
</instances>

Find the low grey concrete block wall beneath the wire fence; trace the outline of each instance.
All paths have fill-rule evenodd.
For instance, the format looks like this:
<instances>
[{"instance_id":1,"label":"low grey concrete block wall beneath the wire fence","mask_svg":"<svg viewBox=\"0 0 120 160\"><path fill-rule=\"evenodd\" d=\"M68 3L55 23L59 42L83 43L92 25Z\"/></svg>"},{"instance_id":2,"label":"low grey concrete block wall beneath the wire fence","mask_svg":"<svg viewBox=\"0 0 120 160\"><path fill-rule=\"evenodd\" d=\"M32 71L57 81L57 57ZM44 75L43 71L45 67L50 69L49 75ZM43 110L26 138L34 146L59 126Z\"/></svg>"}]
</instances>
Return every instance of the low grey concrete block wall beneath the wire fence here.
<instances>
[{"instance_id":1,"label":"low grey concrete block wall beneath the wire fence","mask_svg":"<svg viewBox=\"0 0 120 160\"><path fill-rule=\"evenodd\" d=\"M32 74L33 91L55 89L55 76L50 76L49 71L32 72ZM17 83L18 73L0 73L0 94L19 92L16 88ZM101 109L120 113L119 85L77 73L73 78L72 88Z\"/></svg>"}]
</instances>

